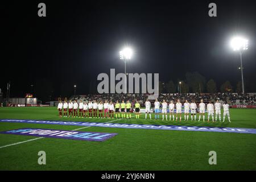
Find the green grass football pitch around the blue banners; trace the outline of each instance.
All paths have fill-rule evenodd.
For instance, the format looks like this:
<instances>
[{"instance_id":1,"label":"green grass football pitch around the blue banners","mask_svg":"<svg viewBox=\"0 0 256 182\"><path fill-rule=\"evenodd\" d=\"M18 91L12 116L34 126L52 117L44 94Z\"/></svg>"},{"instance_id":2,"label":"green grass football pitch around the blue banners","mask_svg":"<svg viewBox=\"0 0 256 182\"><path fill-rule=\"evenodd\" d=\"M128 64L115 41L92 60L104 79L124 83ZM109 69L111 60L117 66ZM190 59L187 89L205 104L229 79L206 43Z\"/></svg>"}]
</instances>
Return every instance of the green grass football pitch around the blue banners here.
<instances>
[{"instance_id":1,"label":"green grass football pitch around the blue banners","mask_svg":"<svg viewBox=\"0 0 256 182\"><path fill-rule=\"evenodd\" d=\"M133 114L134 115L134 114ZM255 128L256 110L230 109L232 123L121 119L113 123ZM55 107L0 107L1 119L107 122L114 119L59 118ZM154 114L152 114L154 118ZM197 116L198 118L198 116ZM207 114L206 114L207 118ZM183 119L183 118L182 118ZM189 117L190 119L190 117ZM227 119L227 118L226 118ZM23 127L74 130L82 126L0 123L0 131ZM171 131L87 127L79 131L118 133L105 142L43 138L0 148L1 170L255 170L256 135L203 131ZM0 147L36 137L0 134ZM38 151L46 151L46 165ZM209 151L217 165L209 165Z\"/></svg>"}]
</instances>

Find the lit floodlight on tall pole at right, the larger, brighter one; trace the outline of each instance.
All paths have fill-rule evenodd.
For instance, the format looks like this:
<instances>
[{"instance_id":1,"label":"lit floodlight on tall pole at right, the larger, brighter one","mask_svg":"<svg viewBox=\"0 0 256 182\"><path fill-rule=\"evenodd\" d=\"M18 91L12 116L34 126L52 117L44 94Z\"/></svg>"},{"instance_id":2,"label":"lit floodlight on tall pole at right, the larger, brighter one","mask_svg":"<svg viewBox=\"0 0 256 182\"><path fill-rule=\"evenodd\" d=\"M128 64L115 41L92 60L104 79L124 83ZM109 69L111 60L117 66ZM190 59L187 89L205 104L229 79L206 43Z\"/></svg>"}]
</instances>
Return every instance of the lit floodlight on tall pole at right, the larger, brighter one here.
<instances>
[{"instance_id":1,"label":"lit floodlight on tall pole at right, the larger, brighter one","mask_svg":"<svg viewBox=\"0 0 256 182\"><path fill-rule=\"evenodd\" d=\"M242 77L242 93L245 93L245 86L243 84L243 64L242 64L242 53L243 51L248 49L248 40L236 37L233 38L230 42L230 46L233 48L234 51L240 51L240 61L241 61L241 77Z\"/></svg>"}]
</instances>

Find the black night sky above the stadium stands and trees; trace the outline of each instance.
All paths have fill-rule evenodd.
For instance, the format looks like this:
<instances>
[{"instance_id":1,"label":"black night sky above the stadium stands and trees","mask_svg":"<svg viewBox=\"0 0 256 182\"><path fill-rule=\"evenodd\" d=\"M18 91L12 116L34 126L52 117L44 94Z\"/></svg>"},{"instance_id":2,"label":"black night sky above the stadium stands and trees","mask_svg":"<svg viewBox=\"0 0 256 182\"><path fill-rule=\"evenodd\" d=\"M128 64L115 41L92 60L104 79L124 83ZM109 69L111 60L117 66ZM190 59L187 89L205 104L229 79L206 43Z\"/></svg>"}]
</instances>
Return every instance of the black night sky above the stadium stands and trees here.
<instances>
[{"instance_id":1,"label":"black night sky above the stadium stands and trees","mask_svg":"<svg viewBox=\"0 0 256 182\"><path fill-rule=\"evenodd\" d=\"M44 2L47 16L38 16ZM208 16L210 2L217 17ZM241 81L234 35L249 39L243 54L246 92L256 92L255 1L11 1L1 2L0 88L11 97L49 89L53 97L92 92L99 73L124 72L119 51L129 45L130 73L159 73L160 81L186 72L213 78L219 87ZM96 87L96 86L95 86ZM38 91L39 92L39 91ZM42 93L42 92L41 92ZM35 92L36 94L36 92Z\"/></svg>"}]
</instances>

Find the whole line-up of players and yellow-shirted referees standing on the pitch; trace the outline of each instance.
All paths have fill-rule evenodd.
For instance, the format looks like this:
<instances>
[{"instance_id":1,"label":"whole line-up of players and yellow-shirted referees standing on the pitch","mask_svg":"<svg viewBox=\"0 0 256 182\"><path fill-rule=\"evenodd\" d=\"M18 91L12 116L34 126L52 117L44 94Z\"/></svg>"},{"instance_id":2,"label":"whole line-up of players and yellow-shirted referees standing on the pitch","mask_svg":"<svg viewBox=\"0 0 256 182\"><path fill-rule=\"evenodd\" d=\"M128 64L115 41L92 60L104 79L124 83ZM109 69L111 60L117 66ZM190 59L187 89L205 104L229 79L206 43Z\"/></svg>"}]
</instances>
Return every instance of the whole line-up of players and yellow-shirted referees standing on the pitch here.
<instances>
[{"instance_id":1,"label":"whole line-up of players and yellow-shirted referees standing on the pitch","mask_svg":"<svg viewBox=\"0 0 256 182\"><path fill-rule=\"evenodd\" d=\"M147 114L149 114L150 119L151 119L151 102L146 101L145 102L146 106L146 116L145 119L147 119ZM180 100L177 100L177 103L174 104L174 101L171 101L170 104L168 105L165 100L163 102L159 102L158 100L155 100L154 102L154 111L155 111L155 119L159 119L159 113L160 113L160 107L162 106L162 120L164 120L164 115L166 116L166 120L168 120L168 115L167 115L167 107L170 110L170 121L171 118L174 121L175 119L175 109L176 109L176 121L178 119L178 115L181 121L181 109L182 109L182 104ZM228 116L228 121L230 122L230 115L229 115L229 105L223 104L222 105L224 109L223 113L223 121L225 121L226 115ZM121 117L125 118L125 113L126 113L126 118L131 118L131 113L133 110L131 109L131 103L130 101L122 101L121 104L117 101L115 105L113 104L112 101L108 103L108 101L105 101L104 104L102 102L97 103L96 101L89 101L88 104L87 102L82 102L80 101L79 104L77 104L77 101L74 103L72 101L67 101L64 102L64 104L60 101L58 105L59 109L59 115L62 117L62 109L64 109L64 117L67 117L67 109L69 111L69 117L74 115L74 117L78 117L77 109L79 108L79 117L89 117L89 118L97 118L97 110L98 110L98 118L103 118L103 110L104 110L104 118L114 118L114 113L115 113L115 118L120 118L120 113L119 110L121 110ZM138 119L139 118L139 110L141 106L139 105L139 102L137 101L135 103L135 117ZM199 104L199 121L201 117L203 117L203 121L205 121L205 110L207 110L208 113L208 122L210 117L212 117L212 121L217 121L217 117L221 121L221 104L217 100L214 105L212 104L211 101L207 104L205 107L205 104L203 100L201 100ZM89 112L88 112L89 111ZM184 120L188 121L189 120L189 111L191 111L191 121L195 120L196 121L196 113L197 113L197 105L196 102L193 101L192 103L189 103L188 100L184 102ZM214 112L215 111L215 112ZM216 114L215 120L214 120L214 113Z\"/></svg>"}]
</instances>

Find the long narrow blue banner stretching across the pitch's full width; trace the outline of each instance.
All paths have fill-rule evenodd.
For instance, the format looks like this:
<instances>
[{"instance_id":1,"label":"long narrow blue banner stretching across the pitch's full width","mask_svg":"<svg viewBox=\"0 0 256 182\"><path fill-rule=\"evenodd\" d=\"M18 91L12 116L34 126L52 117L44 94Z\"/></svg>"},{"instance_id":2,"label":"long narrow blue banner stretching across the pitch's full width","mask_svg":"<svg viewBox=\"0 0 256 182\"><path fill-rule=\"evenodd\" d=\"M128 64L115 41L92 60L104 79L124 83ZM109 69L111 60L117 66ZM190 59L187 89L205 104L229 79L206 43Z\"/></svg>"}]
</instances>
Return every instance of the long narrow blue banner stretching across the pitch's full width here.
<instances>
[{"instance_id":1,"label":"long narrow blue banner stretching across the pitch's full width","mask_svg":"<svg viewBox=\"0 0 256 182\"><path fill-rule=\"evenodd\" d=\"M126 123L100 123L100 122L78 122L78 121L36 121L21 119L0 119L0 122L31 123L48 125L72 125L72 126L97 126L122 129L152 129L152 130L177 130L177 131L209 131L222 133L256 134L256 129L235 127L206 127L206 126L175 126L175 125L138 125Z\"/></svg>"}]
</instances>

